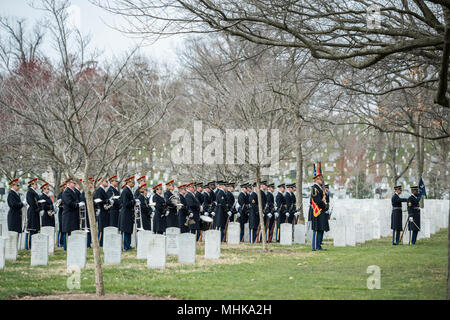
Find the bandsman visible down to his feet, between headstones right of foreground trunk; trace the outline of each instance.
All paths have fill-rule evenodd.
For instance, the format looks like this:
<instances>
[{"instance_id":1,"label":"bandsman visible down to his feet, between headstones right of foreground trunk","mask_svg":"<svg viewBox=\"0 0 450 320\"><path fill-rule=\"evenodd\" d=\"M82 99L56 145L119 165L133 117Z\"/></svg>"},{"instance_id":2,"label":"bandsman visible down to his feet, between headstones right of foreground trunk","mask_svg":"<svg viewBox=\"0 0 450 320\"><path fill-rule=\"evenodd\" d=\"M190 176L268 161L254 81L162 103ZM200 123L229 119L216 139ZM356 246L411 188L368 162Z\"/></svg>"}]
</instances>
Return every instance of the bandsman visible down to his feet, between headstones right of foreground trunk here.
<instances>
[{"instance_id":1,"label":"bandsman visible down to his feet, between headstones right of foreground trunk","mask_svg":"<svg viewBox=\"0 0 450 320\"><path fill-rule=\"evenodd\" d=\"M119 213L119 230L122 234L122 247L124 251L131 250L131 234L134 227L134 208L136 200L133 195L134 176L125 179L126 185L120 194L122 207Z\"/></svg>"}]
</instances>

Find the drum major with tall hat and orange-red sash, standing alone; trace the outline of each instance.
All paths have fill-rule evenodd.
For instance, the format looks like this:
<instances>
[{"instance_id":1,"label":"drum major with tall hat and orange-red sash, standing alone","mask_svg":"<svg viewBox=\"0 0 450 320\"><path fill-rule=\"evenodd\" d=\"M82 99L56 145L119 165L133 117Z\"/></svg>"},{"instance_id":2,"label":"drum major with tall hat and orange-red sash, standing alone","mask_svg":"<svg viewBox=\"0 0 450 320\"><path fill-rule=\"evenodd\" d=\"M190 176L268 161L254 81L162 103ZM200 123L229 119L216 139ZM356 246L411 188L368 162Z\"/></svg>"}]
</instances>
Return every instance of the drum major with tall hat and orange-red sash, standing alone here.
<instances>
[{"instance_id":1,"label":"drum major with tall hat and orange-red sash, standing alone","mask_svg":"<svg viewBox=\"0 0 450 320\"><path fill-rule=\"evenodd\" d=\"M330 228L328 226L327 214L325 214L328 207L326 201L324 201L325 194L322 190L323 176L320 162L317 163L317 171L316 166L314 165L313 179L315 183L311 188L311 204L313 207L313 217L311 223L313 230L312 250L326 251L326 249L322 248L321 243L324 232L329 231Z\"/></svg>"}]
</instances>

